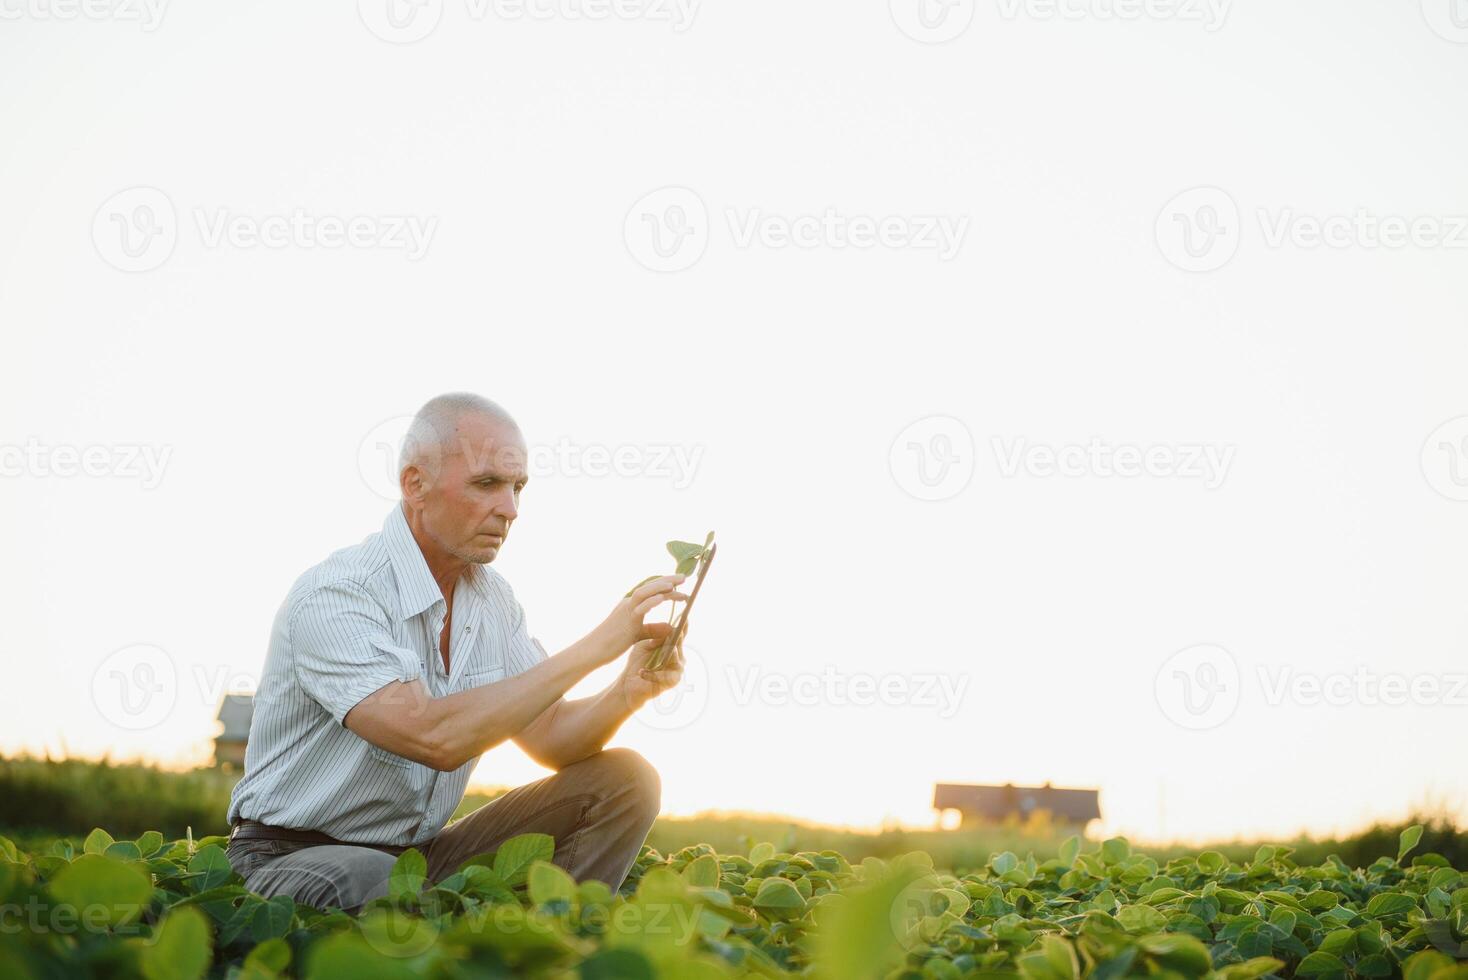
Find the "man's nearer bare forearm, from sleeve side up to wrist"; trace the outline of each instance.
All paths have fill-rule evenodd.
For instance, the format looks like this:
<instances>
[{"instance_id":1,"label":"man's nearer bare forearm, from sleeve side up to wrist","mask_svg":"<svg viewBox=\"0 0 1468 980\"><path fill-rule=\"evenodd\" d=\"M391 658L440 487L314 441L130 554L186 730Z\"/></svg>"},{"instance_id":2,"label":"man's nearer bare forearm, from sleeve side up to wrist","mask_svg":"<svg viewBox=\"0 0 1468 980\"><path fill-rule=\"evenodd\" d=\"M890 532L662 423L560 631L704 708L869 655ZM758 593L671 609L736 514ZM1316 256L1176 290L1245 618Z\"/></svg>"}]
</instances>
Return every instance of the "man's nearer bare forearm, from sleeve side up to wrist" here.
<instances>
[{"instance_id":1,"label":"man's nearer bare forearm, from sleeve side up to wrist","mask_svg":"<svg viewBox=\"0 0 1468 980\"><path fill-rule=\"evenodd\" d=\"M495 745L518 735L587 673L615 659L621 653L617 646L615 640L593 629L524 673L435 698L429 707L432 722L426 729L430 754L437 763L436 767L445 772L458 769L465 761L483 756ZM580 701L573 704L580 704ZM561 707L568 706L562 704ZM556 712L556 714L561 713L561 710ZM621 720L617 725L621 725ZM615 731L614 725L611 732ZM606 738L611 738L611 732Z\"/></svg>"}]
</instances>

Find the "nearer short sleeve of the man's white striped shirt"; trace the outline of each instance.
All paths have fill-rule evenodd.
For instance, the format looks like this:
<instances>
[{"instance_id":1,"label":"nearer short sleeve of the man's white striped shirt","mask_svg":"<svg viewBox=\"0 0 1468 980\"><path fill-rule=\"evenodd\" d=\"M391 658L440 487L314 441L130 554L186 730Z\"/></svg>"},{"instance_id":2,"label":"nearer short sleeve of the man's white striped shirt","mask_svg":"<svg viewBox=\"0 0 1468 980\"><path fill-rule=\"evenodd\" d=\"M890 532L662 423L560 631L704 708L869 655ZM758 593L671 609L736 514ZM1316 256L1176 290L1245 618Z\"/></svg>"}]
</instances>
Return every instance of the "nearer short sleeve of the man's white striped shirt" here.
<instances>
[{"instance_id":1,"label":"nearer short sleeve of the man's white striped shirt","mask_svg":"<svg viewBox=\"0 0 1468 980\"><path fill-rule=\"evenodd\" d=\"M367 695L423 676L418 654L393 640L388 610L351 581L301 600L291 615L291 650L301 690L338 725Z\"/></svg>"}]
</instances>

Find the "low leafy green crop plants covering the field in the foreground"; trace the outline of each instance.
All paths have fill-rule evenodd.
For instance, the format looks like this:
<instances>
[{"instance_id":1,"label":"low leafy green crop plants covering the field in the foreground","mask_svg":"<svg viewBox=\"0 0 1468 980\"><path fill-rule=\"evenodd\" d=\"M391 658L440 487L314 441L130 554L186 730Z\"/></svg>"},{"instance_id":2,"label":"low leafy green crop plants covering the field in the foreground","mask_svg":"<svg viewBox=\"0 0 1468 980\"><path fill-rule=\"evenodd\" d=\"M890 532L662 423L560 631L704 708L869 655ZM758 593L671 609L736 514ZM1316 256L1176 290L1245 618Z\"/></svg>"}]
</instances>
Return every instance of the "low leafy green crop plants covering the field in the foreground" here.
<instances>
[{"instance_id":1,"label":"low leafy green crop plants covering the field in the foreground","mask_svg":"<svg viewBox=\"0 0 1468 980\"><path fill-rule=\"evenodd\" d=\"M0 973L1468 980L1468 874L1431 852L1405 864L1417 836L1365 869L1279 845L1160 861L1120 838L1003 849L962 873L922 851L644 846L614 893L530 833L439 882L408 849L357 915L250 893L220 838L94 829L34 854L0 838Z\"/></svg>"}]
</instances>

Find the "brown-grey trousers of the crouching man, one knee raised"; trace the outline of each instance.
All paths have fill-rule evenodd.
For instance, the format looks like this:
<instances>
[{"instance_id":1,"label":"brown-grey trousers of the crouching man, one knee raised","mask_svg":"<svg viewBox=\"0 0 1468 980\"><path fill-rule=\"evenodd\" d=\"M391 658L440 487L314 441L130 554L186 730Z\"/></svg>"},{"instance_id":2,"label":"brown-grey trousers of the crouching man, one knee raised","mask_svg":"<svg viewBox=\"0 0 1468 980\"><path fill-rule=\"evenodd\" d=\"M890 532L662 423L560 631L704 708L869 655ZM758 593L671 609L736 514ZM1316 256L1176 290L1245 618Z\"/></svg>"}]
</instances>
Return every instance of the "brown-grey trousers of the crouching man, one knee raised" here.
<instances>
[{"instance_id":1,"label":"brown-grey trousers of the crouching man, one knee raised","mask_svg":"<svg viewBox=\"0 0 1468 980\"><path fill-rule=\"evenodd\" d=\"M658 816L658 770L628 748L608 748L545 779L511 789L443 827L426 846L429 880L440 882L464 861L518 833L555 838L555 864L575 880L605 882L614 892L637 860ZM355 913L388 895L396 858L386 851L336 844L236 839L229 863L257 895L289 895L317 908Z\"/></svg>"}]
</instances>

